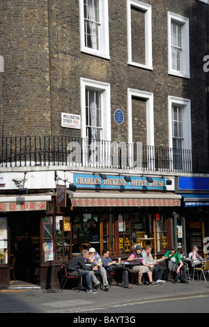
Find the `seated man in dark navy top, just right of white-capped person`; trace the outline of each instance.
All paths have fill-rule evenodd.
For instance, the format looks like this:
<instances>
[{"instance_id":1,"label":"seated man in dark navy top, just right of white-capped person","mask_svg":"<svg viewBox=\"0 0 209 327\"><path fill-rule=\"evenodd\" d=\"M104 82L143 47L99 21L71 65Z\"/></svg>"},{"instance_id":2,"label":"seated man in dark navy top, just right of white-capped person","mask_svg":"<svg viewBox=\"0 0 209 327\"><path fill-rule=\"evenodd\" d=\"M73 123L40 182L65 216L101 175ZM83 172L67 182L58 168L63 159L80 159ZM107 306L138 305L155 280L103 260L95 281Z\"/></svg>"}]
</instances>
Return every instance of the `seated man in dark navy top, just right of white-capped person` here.
<instances>
[{"instance_id":1,"label":"seated man in dark navy top, just right of white-capped person","mask_svg":"<svg viewBox=\"0 0 209 327\"><path fill-rule=\"evenodd\" d=\"M102 263L104 268L107 270L107 272L115 273L115 274L122 273L124 278L123 287L125 289L132 289L132 287L129 286L129 279L128 279L128 272L130 271L130 273L132 273L132 271L127 267L123 267L119 265L118 263L116 263L116 261L111 260L109 258L109 249L103 249Z\"/></svg>"}]
</instances>

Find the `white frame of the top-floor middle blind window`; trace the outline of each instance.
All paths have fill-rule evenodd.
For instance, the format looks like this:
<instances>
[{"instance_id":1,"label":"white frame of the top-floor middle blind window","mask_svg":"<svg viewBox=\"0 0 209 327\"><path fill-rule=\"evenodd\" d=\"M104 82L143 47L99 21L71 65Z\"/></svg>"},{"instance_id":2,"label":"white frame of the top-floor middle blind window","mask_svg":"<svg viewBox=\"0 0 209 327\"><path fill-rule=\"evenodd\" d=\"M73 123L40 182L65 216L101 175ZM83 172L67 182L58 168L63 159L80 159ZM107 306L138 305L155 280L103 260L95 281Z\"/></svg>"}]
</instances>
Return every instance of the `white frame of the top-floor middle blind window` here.
<instances>
[{"instance_id":1,"label":"white frame of the top-floor middle blind window","mask_svg":"<svg viewBox=\"0 0 209 327\"><path fill-rule=\"evenodd\" d=\"M132 6L145 11L145 43L146 43L146 64L132 61ZM127 0L127 63L132 66L146 68L153 71L153 46L152 46L152 7L138 0Z\"/></svg>"}]
</instances>

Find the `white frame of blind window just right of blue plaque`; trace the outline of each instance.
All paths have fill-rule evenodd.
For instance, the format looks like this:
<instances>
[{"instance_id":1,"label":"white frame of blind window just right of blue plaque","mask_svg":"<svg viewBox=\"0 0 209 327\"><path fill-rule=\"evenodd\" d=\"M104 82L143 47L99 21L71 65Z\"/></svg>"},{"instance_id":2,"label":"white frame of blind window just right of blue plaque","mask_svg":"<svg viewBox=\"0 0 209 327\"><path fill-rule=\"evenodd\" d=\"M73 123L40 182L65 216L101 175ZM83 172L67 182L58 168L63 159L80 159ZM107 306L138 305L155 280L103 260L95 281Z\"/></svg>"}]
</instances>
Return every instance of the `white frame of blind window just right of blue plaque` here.
<instances>
[{"instance_id":1,"label":"white frame of blind window just right of blue plaque","mask_svg":"<svg viewBox=\"0 0 209 327\"><path fill-rule=\"evenodd\" d=\"M146 101L146 126L147 126L147 145L155 145L154 136L154 96L153 93L139 91L137 89L127 89L127 115L128 115L128 143L133 142L132 131L132 96Z\"/></svg>"}]
</instances>

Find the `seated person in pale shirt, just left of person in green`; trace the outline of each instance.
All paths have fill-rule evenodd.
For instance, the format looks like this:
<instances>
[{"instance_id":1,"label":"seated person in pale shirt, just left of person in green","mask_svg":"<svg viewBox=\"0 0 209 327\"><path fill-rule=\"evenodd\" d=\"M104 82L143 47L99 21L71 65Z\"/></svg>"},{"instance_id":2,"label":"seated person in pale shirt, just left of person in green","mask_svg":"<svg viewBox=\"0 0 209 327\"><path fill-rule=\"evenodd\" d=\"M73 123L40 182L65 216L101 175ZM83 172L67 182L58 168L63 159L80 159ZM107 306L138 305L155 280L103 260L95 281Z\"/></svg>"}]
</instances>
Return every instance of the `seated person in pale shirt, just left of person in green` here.
<instances>
[{"instance_id":1,"label":"seated person in pale shirt, just left of person in green","mask_svg":"<svg viewBox=\"0 0 209 327\"><path fill-rule=\"evenodd\" d=\"M147 266L150 271L153 271L153 275L155 277L155 282L157 284L160 284L162 280L162 274L164 273L164 268L160 266L154 259L151 254L152 252L152 247L151 245L146 245L144 251L141 252L141 255L143 256L144 259L144 266ZM155 285L156 283L150 283Z\"/></svg>"}]
</instances>

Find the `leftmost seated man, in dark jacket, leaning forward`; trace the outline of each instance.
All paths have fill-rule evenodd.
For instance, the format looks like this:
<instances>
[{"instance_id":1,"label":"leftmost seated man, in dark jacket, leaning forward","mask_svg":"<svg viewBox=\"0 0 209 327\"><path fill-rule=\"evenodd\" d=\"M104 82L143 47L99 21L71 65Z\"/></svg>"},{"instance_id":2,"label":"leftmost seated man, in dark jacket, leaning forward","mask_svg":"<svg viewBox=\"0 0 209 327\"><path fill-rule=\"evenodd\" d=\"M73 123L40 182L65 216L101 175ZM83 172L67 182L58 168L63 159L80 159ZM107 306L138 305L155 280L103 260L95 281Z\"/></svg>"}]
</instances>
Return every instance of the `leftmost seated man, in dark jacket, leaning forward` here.
<instances>
[{"instance_id":1,"label":"leftmost seated man, in dark jacket, leaning forward","mask_svg":"<svg viewBox=\"0 0 209 327\"><path fill-rule=\"evenodd\" d=\"M74 259L68 263L67 267L69 269L77 269L79 270L79 275L84 276L86 279L86 292L87 293L97 293L92 286L92 279L91 279L91 268L85 265L84 259L88 256L88 250L84 249L82 251L82 254L79 254L79 256L76 256ZM98 270L97 267L94 267L93 270ZM77 276L77 272L73 271L70 273L71 276Z\"/></svg>"}]
</instances>

